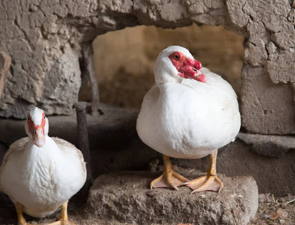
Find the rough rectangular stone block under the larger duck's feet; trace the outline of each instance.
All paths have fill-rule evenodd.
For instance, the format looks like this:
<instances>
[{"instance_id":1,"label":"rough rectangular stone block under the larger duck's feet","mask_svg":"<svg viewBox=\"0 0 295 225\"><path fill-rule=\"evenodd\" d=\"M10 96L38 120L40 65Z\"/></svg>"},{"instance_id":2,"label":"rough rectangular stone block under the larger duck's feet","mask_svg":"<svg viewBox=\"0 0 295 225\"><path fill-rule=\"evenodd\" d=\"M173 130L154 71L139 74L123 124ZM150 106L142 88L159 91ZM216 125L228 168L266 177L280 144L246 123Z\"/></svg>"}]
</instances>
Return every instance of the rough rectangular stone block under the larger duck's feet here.
<instances>
[{"instance_id":1,"label":"rough rectangular stone block under the larger duck's feet","mask_svg":"<svg viewBox=\"0 0 295 225\"><path fill-rule=\"evenodd\" d=\"M188 179L203 175L188 170L179 172ZM258 188L251 176L220 176L224 183L220 194L190 195L188 187L180 187L179 191L164 188L150 191L150 181L159 175L140 171L103 174L89 191L87 211L104 220L135 224L246 225L255 217Z\"/></svg>"}]
</instances>

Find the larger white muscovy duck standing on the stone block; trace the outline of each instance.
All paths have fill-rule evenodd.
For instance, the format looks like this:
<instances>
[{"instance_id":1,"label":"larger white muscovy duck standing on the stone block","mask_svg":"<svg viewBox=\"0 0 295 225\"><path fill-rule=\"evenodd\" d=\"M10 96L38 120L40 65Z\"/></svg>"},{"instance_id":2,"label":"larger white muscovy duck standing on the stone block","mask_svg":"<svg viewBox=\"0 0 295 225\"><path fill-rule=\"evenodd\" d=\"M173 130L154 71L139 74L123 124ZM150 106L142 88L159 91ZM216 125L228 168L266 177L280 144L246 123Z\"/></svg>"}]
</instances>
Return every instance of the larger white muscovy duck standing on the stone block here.
<instances>
[{"instance_id":1,"label":"larger white muscovy duck standing on the stone block","mask_svg":"<svg viewBox=\"0 0 295 225\"><path fill-rule=\"evenodd\" d=\"M232 86L202 68L190 52L170 46L157 57L155 84L144 97L137 132L149 147L163 154L163 174L151 188L176 190L187 185L194 192L218 191L223 183L216 174L218 148L234 141L240 113ZM171 169L169 157L200 159L210 155L207 175L189 181Z\"/></svg>"}]
</instances>

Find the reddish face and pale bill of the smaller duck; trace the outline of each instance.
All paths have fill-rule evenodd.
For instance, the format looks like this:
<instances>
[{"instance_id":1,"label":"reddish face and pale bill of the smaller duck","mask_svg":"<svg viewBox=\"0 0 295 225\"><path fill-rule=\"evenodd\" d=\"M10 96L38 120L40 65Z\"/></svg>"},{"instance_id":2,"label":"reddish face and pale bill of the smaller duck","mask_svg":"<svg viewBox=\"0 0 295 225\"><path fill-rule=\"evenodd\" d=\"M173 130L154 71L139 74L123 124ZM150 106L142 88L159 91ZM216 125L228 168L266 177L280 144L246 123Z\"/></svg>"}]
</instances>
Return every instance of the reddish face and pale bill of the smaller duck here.
<instances>
[{"instance_id":1,"label":"reddish face and pale bill of the smaller duck","mask_svg":"<svg viewBox=\"0 0 295 225\"><path fill-rule=\"evenodd\" d=\"M29 132L32 135L33 143L41 148L45 144L45 115L44 112L42 113L42 120L41 124L34 124L32 121L32 118L30 117L30 114L28 115L28 125L29 125Z\"/></svg>"}]
</instances>

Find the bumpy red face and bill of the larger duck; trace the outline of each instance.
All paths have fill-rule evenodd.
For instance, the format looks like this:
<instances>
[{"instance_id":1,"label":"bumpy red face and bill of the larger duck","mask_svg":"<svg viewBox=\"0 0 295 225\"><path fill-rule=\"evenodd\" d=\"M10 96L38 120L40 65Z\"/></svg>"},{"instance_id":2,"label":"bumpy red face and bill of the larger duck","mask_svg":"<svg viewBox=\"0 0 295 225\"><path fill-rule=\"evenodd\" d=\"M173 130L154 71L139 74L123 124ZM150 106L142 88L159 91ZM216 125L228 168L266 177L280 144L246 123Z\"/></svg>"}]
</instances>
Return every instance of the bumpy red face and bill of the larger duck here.
<instances>
[{"instance_id":1,"label":"bumpy red face and bill of the larger duck","mask_svg":"<svg viewBox=\"0 0 295 225\"><path fill-rule=\"evenodd\" d=\"M168 57L179 72L179 77L191 78L196 81L209 84L208 78L200 71L202 68L201 62L188 58L180 52L174 52Z\"/></svg>"}]
</instances>

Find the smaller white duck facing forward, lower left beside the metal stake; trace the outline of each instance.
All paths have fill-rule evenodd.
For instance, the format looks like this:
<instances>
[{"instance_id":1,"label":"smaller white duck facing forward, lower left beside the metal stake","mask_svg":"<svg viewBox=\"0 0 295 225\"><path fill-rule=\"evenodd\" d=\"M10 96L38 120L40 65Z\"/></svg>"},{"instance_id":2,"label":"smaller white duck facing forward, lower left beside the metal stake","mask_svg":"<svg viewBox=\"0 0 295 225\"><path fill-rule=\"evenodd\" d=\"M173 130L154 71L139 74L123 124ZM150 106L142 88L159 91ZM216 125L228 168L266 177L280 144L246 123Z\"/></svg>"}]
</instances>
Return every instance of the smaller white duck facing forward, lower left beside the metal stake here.
<instances>
[{"instance_id":1,"label":"smaller white duck facing forward, lower left beside the metal stake","mask_svg":"<svg viewBox=\"0 0 295 225\"><path fill-rule=\"evenodd\" d=\"M29 225L23 212L44 218L61 207L60 220L52 225L72 225L67 202L86 181L82 152L73 144L48 137L48 119L34 108L25 122L29 137L12 143L0 167L0 190L15 204L18 224Z\"/></svg>"}]
</instances>

